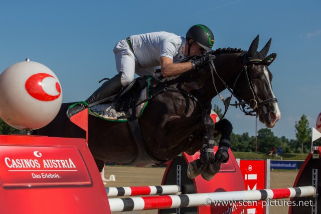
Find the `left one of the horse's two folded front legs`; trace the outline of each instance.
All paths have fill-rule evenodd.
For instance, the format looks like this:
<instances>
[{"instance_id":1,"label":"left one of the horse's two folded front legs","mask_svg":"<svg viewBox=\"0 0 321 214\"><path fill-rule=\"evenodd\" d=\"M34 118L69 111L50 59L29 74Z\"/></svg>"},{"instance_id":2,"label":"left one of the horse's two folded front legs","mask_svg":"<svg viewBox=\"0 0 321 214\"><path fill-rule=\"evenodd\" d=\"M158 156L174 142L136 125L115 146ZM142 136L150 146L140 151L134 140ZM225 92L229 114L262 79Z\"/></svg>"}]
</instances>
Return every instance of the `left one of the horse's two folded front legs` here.
<instances>
[{"instance_id":1,"label":"left one of the horse's two folded front legs","mask_svg":"<svg viewBox=\"0 0 321 214\"><path fill-rule=\"evenodd\" d=\"M209 115L202 116L204 128L203 145L200 158L191 162L188 166L187 175L190 179L202 174L209 164L214 164L214 127L215 124Z\"/></svg>"}]
</instances>

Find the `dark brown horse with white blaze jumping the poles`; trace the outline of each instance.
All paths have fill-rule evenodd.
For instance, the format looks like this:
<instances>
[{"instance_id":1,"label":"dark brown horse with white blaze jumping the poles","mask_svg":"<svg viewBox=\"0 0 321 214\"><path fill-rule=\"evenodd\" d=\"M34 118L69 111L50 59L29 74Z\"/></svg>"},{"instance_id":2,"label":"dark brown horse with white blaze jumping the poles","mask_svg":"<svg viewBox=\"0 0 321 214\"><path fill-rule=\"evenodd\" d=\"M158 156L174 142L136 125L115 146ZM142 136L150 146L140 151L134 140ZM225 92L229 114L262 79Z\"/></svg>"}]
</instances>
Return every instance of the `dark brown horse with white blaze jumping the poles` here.
<instances>
[{"instance_id":1,"label":"dark brown horse with white blaze jumping the poles","mask_svg":"<svg viewBox=\"0 0 321 214\"><path fill-rule=\"evenodd\" d=\"M88 147L99 171L105 162L144 167L165 163L182 152L193 155L201 151L200 159L190 163L188 176L212 179L229 158L227 141L220 142L220 152L213 153L217 136L210 117L213 97L227 88L239 100L236 105L247 115L258 115L267 128L280 118L268 69L276 54L267 56L271 39L261 51L257 51L258 43L259 36L247 51L217 49L208 53L210 63L199 70L151 80L148 104L141 116L131 121L135 126L89 115ZM229 99L222 100L226 106L233 105ZM86 133L66 116L71 104L63 103L56 118L34 134L85 138Z\"/></svg>"}]
</instances>

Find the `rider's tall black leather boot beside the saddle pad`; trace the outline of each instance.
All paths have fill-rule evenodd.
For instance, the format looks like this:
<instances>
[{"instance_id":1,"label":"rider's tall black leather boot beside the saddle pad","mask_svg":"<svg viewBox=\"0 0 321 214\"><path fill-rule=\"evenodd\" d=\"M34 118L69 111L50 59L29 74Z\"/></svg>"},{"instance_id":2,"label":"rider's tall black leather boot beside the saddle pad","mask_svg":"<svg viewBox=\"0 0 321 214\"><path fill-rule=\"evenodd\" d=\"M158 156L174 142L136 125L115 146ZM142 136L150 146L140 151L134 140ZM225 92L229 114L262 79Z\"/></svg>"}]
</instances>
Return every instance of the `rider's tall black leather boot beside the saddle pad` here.
<instances>
[{"instance_id":1,"label":"rider's tall black leather boot beside the saddle pad","mask_svg":"<svg viewBox=\"0 0 321 214\"><path fill-rule=\"evenodd\" d=\"M122 88L121 84L121 73L118 73L113 78L109 79L108 81L104 82L88 99L85 100L87 105L83 103L79 103L70 109L67 110L67 117L70 119L72 116L78 114L79 112L85 110L88 104L94 103L101 99L110 97Z\"/></svg>"}]
</instances>

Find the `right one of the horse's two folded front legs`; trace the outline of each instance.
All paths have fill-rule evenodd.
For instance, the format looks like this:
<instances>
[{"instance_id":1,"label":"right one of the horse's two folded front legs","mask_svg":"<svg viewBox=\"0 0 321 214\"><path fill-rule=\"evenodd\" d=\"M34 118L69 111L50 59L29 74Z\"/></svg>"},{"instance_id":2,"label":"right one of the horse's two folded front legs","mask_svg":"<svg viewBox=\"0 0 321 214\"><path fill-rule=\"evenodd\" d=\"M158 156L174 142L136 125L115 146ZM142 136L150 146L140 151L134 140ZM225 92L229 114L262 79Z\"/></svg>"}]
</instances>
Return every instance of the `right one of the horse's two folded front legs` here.
<instances>
[{"instance_id":1,"label":"right one of the horse's two folded front legs","mask_svg":"<svg viewBox=\"0 0 321 214\"><path fill-rule=\"evenodd\" d=\"M221 123L220 123L221 122ZM230 138L233 130L232 124L223 119L216 124L216 129L219 129L222 133L219 148L215 153L215 161L208 165L205 169L202 177L206 180L211 180L216 173L218 173L221 169L221 164L226 163L229 160L228 150L230 148Z\"/></svg>"}]
</instances>

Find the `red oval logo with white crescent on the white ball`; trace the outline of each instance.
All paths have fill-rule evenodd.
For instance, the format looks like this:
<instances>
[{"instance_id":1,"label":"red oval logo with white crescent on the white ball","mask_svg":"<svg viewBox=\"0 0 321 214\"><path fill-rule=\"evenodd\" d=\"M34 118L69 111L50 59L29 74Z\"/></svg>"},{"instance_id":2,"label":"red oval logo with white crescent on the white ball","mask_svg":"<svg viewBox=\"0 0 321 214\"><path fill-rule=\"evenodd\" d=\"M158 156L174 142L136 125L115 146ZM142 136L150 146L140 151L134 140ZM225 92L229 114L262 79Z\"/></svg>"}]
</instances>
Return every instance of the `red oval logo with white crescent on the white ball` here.
<instances>
[{"instance_id":1,"label":"red oval logo with white crescent on the white ball","mask_svg":"<svg viewBox=\"0 0 321 214\"><path fill-rule=\"evenodd\" d=\"M27 79L25 88L32 97L41 101L55 100L61 94L59 82L55 77L48 73L37 73L32 75ZM49 91L52 94L49 94Z\"/></svg>"}]
</instances>

